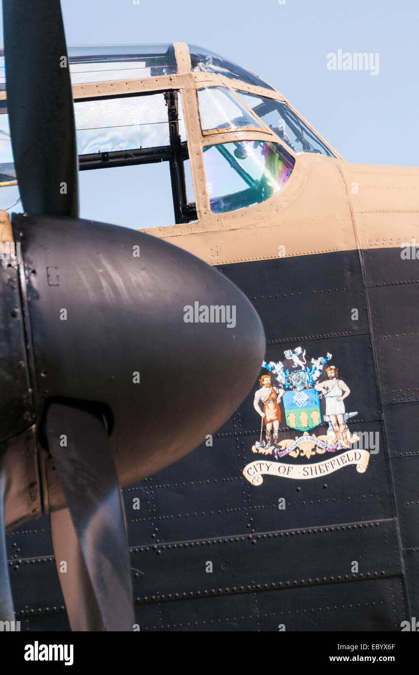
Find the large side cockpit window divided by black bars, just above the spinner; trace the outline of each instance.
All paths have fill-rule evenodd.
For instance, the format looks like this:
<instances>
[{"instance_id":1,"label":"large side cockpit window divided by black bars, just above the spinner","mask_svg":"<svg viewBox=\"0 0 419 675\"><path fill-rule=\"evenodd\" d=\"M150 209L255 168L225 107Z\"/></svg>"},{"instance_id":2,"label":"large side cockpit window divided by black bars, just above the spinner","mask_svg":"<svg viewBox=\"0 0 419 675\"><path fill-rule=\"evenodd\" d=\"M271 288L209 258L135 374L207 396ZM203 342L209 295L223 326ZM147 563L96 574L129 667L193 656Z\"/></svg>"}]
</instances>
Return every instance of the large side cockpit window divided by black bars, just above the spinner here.
<instances>
[{"instance_id":1,"label":"large side cockpit window divided by black bars, just above the spinner","mask_svg":"<svg viewBox=\"0 0 419 675\"><path fill-rule=\"evenodd\" d=\"M144 228L196 219L179 92L76 101L74 111L81 217Z\"/></svg>"}]
</instances>

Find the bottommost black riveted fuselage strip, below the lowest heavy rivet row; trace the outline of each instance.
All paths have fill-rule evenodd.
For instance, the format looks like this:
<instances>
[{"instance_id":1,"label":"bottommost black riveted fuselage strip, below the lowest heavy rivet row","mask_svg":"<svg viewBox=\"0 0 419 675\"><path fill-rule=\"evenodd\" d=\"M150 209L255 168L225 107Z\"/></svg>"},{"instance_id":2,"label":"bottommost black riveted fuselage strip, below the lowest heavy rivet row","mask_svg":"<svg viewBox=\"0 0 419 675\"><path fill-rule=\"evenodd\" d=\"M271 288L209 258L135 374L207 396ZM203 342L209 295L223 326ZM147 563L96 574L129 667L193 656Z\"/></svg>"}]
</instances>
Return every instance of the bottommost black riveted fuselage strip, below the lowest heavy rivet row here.
<instances>
[{"instance_id":1,"label":"bottommost black riveted fuselage strip, below the lowest heavy rivet row","mask_svg":"<svg viewBox=\"0 0 419 675\"><path fill-rule=\"evenodd\" d=\"M404 618L399 577L136 606L141 630L163 632L400 630Z\"/></svg>"}]
</instances>

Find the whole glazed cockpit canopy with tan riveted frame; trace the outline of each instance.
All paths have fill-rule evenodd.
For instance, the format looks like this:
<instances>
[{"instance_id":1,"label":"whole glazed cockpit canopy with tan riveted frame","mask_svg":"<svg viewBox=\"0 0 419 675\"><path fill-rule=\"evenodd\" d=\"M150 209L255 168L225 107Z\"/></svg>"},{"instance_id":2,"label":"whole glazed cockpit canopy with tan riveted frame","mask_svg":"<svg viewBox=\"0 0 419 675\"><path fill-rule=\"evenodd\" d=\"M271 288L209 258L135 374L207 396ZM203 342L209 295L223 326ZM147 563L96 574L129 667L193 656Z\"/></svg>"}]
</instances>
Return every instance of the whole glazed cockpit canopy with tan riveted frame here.
<instances>
[{"instance_id":1,"label":"whole glazed cockpit canopy with tan riveted frame","mask_svg":"<svg viewBox=\"0 0 419 675\"><path fill-rule=\"evenodd\" d=\"M268 200L301 153L337 157L271 85L208 49L69 47L68 57L81 217L130 225L129 202L142 214L134 227L199 221ZM22 210L15 179L0 50L1 209Z\"/></svg>"}]
</instances>

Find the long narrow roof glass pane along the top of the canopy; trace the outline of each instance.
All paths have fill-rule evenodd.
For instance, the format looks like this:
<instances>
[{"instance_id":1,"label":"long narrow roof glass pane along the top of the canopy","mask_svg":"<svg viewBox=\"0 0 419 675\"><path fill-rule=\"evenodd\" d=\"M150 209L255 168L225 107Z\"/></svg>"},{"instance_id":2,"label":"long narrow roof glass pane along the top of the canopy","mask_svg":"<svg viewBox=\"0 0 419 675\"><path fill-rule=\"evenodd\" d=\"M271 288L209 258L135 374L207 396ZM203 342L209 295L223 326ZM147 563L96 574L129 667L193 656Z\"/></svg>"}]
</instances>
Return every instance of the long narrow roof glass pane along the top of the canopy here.
<instances>
[{"instance_id":1,"label":"long narrow roof glass pane along the top of the canopy","mask_svg":"<svg viewBox=\"0 0 419 675\"><path fill-rule=\"evenodd\" d=\"M177 72L173 45L69 47L68 55L72 84L150 78Z\"/></svg>"}]
</instances>

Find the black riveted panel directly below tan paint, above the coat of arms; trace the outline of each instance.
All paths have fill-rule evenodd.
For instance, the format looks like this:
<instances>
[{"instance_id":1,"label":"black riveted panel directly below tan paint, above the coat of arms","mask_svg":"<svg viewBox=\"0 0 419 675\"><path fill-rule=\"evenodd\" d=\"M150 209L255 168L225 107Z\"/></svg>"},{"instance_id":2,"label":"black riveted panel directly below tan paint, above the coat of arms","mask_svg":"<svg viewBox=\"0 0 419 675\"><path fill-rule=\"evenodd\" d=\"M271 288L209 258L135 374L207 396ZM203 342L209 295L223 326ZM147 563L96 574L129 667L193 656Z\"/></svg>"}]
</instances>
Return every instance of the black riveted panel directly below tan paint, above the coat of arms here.
<instances>
[{"instance_id":1,"label":"black riveted panel directly below tan paint, above the coat of arms","mask_svg":"<svg viewBox=\"0 0 419 675\"><path fill-rule=\"evenodd\" d=\"M281 242L277 242L280 246ZM267 342L368 331L357 250L218 268L252 301ZM358 319L352 320L353 308Z\"/></svg>"}]
</instances>

